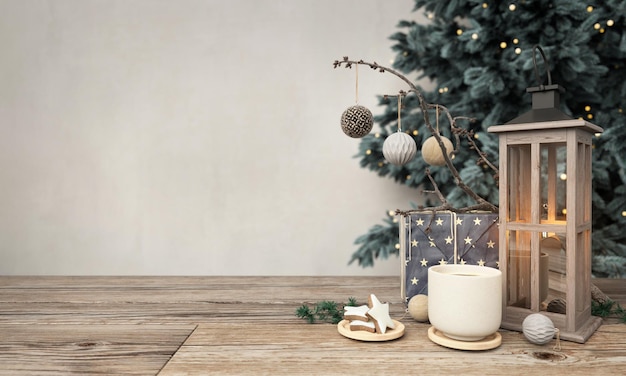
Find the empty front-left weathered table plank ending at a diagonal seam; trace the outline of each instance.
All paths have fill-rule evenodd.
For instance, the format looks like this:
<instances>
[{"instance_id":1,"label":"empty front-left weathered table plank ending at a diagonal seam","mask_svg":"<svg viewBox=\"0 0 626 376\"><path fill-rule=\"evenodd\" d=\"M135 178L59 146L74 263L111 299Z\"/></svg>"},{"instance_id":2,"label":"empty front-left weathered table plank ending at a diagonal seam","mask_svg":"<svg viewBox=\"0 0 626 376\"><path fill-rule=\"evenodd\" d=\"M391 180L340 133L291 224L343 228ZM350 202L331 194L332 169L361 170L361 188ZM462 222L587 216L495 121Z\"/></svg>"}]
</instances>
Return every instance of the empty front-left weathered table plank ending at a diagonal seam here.
<instances>
[{"instance_id":1,"label":"empty front-left weathered table plank ending at a diagonal seam","mask_svg":"<svg viewBox=\"0 0 626 376\"><path fill-rule=\"evenodd\" d=\"M194 328L0 324L0 375L154 375Z\"/></svg>"}]
</instances>

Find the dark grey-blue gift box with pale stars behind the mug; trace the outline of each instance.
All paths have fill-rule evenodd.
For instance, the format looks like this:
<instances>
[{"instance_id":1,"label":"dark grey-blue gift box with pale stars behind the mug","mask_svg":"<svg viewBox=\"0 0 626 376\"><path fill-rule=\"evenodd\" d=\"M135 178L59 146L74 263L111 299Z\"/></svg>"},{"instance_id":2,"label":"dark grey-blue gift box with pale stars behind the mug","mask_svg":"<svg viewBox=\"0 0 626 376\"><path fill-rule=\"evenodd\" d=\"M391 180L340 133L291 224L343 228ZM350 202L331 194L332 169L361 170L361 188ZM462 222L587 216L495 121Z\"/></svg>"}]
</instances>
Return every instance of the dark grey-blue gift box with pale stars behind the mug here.
<instances>
[{"instance_id":1,"label":"dark grey-blue gift box with pale stars behind the mug","mask_svg":"<svg viewBox=\"0 0 626 376\"><path fill-rule=\"evenodd\" d=\"M414 212L404 216L401 244L406 301L428 294L428 268L470 264L498 268L498 215Z\"/></svg>"}]
</instances>

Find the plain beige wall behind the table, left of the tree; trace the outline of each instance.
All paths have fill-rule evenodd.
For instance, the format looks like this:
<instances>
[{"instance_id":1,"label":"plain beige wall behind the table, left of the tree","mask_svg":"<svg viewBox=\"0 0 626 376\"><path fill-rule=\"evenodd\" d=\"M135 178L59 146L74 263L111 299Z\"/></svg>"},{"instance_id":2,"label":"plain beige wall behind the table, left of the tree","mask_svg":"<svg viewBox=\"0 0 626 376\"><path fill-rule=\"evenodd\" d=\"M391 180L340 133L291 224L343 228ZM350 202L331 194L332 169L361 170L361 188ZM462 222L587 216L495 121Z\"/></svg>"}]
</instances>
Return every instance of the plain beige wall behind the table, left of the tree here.
<instances>
[{"instance_id":1,"label":"plain beige wall behind the table, left of the tree","mask_svg":"<svg viewBox=\"0 0 626 376\"><path fill-rule=\"evenodd\" d=\"M361 169L348 55L413 1L0 1L0 273L396 275L348 266L416 192ZM360 70L360 104L406 89Z\"/></svg>"}]
</instances>

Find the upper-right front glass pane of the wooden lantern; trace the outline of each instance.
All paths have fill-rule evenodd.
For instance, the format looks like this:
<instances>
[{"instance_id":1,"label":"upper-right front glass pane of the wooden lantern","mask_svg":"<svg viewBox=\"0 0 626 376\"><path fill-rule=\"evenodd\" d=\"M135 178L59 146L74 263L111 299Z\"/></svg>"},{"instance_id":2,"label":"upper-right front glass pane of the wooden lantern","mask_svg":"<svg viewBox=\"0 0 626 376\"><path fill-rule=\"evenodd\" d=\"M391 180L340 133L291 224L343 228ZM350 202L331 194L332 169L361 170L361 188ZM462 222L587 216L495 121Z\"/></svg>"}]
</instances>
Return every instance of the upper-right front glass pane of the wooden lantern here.
<instances>
[{"instance_id":1,"label":"upper-right front glass pane of the wooden lantern","mask_svg":"<svg viewBox=\"0 0 626 376\"><path fill-rule=\"evenodd\" d=\"M565 143L541 145L541 222L566 220L567 148Z\"/></svg>"}]
</instances>

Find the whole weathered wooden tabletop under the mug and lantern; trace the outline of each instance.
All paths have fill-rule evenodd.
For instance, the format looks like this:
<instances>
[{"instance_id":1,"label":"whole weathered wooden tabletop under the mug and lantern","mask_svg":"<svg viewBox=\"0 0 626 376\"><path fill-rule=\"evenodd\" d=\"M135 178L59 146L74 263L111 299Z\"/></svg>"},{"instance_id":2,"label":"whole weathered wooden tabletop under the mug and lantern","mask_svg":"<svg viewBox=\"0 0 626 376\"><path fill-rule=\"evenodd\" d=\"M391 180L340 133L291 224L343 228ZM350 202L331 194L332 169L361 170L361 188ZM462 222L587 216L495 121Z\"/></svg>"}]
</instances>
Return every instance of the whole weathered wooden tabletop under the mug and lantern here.
<instances>
[{"instance_id":1,"label":"whole weathered wooden tabletop under the mug and lantern","mask_svg":"<svg viewBox=\"0 0 626 376\"><path fill-rule=\"evenodd\" d=\"M626 307L626 280L594 280ZM391 303L405 335L359 342L295 317L303 303ZM405 315L397 277L0 277L0 375L626 374L626 324L585 344L459 351Z\"/></svg>"}]
</instances>

